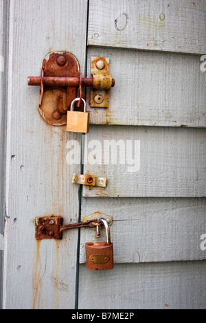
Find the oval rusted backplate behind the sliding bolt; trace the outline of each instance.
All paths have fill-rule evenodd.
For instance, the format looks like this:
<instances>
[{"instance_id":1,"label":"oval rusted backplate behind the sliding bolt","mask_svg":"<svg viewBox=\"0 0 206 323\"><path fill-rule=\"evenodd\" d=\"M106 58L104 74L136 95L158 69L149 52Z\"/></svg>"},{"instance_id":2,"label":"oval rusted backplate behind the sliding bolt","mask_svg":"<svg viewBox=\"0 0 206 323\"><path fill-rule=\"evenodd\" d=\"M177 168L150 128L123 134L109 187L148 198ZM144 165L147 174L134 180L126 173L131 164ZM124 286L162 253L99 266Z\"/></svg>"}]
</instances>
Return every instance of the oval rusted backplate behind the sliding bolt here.
<instances>
[{"instance_id":1,"label":"oval rusted backplate behind the sliding bolt","mask_svg":"<svg viewBox=\"0 0 206 323\"><path fill-rule=\"evenodd\" d=\"M67 52L48 54L42 68L44 77L80 77L78 60ZM76 98L76 91L76 87L44 87L42 104L38 107L41 117L52 126L65 126L67 111Z\"/></svg>"}]
</instances>

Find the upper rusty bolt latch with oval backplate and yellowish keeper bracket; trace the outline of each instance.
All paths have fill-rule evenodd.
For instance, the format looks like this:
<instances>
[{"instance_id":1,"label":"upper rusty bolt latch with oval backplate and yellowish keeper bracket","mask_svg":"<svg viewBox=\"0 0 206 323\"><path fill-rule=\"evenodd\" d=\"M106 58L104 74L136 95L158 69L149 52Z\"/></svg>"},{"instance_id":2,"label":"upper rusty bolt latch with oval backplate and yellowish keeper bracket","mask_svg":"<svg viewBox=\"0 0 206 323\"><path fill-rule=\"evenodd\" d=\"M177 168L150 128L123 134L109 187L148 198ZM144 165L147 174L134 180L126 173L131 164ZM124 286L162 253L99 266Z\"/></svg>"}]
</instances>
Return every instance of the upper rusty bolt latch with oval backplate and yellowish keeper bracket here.
<instances>
[{"instance_id":1,"label":"upper rusty bolt latch with oval backplate and yellowish keeper bracket","mask_svg":"<svg viewBox=\"0 0 206 323\"><path fill-rule=\"evenodd\" d=\"M38 110L42 118L53 126L63 126L67 124L67 111L70 110L71 102L75 98L85 99L82 87L92 87L100 93L108 93L111 87L115 86L115 80L108 74L106 58L95 59L92 74L93 78L82 78L78 60L70 53L48 54L43 60L41 76L28 77L28 85L40 87ZM99 95L98 92L95 93L95 96ZM102 98L95 100L100 102ZM83 111L84 107L80 102L76 104L74 111ZM98 107L108 105L102 102Z\"/></svg>"}]
</instances>

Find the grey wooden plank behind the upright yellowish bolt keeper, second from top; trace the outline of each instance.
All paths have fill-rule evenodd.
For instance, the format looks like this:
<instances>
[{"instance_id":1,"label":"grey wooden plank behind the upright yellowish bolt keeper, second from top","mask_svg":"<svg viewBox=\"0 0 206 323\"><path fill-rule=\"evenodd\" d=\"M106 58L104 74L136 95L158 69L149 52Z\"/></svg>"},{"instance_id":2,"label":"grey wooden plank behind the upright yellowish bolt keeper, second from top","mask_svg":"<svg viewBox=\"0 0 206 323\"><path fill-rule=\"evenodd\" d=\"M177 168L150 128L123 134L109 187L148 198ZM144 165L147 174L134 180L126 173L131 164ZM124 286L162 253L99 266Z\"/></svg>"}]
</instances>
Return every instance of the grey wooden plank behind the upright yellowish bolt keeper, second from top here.
<instances>
[{"instance_id":1,"label":"grey wooden plank behind the upright yellowish bolt keeper, second from top","mask_svg":"<svg viewBox=\"0 0 206 323\"><path fill-rule=\"evenodd\" d=\"M115 78L108 109L90 109L92 124L206 126L200 56L89 47L89 77L92 56L109 57Z\"/></svg>"}]
</instances>

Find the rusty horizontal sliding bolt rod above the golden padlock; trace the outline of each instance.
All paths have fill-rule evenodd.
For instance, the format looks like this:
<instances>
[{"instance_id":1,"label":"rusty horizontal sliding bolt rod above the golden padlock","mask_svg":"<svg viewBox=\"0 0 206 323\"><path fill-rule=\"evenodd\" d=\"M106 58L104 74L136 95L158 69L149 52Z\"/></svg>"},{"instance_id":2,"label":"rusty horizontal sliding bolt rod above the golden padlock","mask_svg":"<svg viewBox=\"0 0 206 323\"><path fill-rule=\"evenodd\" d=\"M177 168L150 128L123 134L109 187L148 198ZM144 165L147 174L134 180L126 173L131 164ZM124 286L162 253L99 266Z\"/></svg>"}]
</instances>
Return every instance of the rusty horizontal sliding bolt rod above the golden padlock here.
<instances>
[{"instance_id":1,"label":"rusty horizontal sliding bolt rod above the golden padlock","mask_svg":"<svg viewBox=\"0 0 206 323\"><path fill-rule=\"evenodd\" d=\"M43 84L50 87L78 87L80 85L80 78L67 77L43 77ZM29 76L28 85L41 86L41 77ZM112 80L112 87L115 86L115 80ZM93 87L93 78L82 78L82 87Z\"/></svg>"}]
</instances>

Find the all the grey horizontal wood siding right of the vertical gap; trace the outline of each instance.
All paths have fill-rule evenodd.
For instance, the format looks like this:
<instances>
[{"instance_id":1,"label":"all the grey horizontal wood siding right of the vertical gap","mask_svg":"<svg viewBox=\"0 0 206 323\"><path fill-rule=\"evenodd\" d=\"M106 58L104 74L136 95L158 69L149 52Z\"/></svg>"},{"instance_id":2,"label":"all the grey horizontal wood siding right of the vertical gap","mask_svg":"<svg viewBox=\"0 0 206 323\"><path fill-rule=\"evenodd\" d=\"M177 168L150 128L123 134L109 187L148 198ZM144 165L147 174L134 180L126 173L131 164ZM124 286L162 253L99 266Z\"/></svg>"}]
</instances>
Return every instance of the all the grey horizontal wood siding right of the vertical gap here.
<instances>
[{"instance_id":1,"label":"all the grey horizontal wood siding right of the vertical gap","mask_svg":"<svg viewBox=\"0 0 206 323\"><path fill-rule=\"evenodd\" d=\"M108 186L84 186L82 217L113 216L115 267L86 269L98 239L81 230L80 309L206 309L205 13L203 0L89 1L87 75L91 56L108 57L115 87L108 109L91 108L84 173Z\"/></svg>"}]
</instances>

